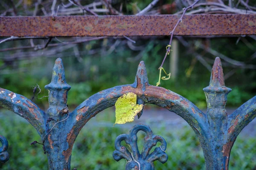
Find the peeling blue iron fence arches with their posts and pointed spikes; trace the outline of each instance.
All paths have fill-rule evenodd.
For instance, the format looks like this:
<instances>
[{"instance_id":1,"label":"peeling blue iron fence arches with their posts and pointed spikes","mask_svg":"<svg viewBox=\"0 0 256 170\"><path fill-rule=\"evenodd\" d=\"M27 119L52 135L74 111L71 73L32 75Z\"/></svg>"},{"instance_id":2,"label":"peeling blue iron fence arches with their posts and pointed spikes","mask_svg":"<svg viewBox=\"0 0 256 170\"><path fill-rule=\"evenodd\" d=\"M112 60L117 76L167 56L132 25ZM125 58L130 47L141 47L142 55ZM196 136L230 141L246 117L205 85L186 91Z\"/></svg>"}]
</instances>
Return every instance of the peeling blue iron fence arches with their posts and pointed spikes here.
<instances>
[{"instance_id":1,"label":"peeling blue iron fence arches with their posts and pointed spikes","mask_svg":"<svg viewBox=\"0 0 256 170\"><path fill-rule=\"evenodd\" d=\"M231 148L241 130L256 117L256 96L227 115L225 105L231 91L224 83L220 58L212 67L210 83L204 88L207 113L188 99L165 88L149 85L144 62L140 62L135 82L100 91L82 102L74 111L67 108L70 86L65 80L62 60L56 59L48 90L46 113L25 96L0 88L0 106L7 108L35 127L44 144L49 170L70 170L73 144L81 128L99 112L113 106L123 94L133 92L139 104L154 104L175 112L192 127L201 143L207 170L228 170ZM141 116L140 113L139 116ZM54 119L49 122L48 120ZM162 148L163 149L163 148Z\"/></svg>"}]
</instances>

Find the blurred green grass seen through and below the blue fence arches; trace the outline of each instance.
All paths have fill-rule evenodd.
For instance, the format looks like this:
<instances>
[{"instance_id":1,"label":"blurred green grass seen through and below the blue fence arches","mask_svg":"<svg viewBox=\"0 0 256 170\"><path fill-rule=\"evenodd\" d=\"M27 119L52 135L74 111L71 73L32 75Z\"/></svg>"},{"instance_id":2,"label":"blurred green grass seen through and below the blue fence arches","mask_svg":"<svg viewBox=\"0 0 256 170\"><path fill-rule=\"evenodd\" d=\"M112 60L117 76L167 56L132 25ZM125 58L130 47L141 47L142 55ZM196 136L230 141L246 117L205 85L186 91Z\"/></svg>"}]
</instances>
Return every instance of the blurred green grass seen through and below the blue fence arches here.
<instances>
[{"instance_id":1,"label":"blurred green grass seen through and below the blue fence arches","mask_svg":"<svg viewBox=\"0 0 256 170\"><path fill-rule=\"evenodd\" d=\"M41 145L29 144L41 141L36 130L26 120L9 111L0 113L0 134L9 141L10 159L0 164L1 170L47 170L47 156ZM112 153L116 136L128 133L134 122L115 125L114 113L105 111L91 119L81 130L73 147L71 169L117 170L125 168L125 160L116 162ZM150 125L150 122L147 122ZM154 134L163 136L169 156L165 164L155 162L155 170L204 170L204 155L195 133L188 125L165 127L152 125ZM151 125L150 125L151 126ZM170 130L171 129L171 130ZM143 133L138 133L138 145L143 147ZM154 149L154 148L153 148ZM256 169L256 138L239 135L230 156L230 170Z\"/></svg>"}]
</instances>

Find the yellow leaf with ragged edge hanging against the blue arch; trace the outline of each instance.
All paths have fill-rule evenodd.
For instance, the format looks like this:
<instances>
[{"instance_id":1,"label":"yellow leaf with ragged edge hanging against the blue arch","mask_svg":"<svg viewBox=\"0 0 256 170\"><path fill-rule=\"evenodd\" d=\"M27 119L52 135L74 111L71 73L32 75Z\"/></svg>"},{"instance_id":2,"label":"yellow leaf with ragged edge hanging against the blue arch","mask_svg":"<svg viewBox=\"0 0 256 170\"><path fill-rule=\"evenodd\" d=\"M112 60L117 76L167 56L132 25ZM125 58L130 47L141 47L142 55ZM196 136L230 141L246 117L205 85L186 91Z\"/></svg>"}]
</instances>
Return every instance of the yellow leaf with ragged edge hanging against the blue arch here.
<instances>
[{"instance_id":1,"label":"yellow leaf with ragged edge hanging against the blue arch","mask_svg":"<svg viewBox=\"0 0 256 170\"><path fill-rule=\"evenodd\" d=\"M126 122L134 121L134 117L139 113L143 105L138 105L137 95L127 93L120 96L116 101L116 124L125 124Z\"/></svg>"}]
</instances>

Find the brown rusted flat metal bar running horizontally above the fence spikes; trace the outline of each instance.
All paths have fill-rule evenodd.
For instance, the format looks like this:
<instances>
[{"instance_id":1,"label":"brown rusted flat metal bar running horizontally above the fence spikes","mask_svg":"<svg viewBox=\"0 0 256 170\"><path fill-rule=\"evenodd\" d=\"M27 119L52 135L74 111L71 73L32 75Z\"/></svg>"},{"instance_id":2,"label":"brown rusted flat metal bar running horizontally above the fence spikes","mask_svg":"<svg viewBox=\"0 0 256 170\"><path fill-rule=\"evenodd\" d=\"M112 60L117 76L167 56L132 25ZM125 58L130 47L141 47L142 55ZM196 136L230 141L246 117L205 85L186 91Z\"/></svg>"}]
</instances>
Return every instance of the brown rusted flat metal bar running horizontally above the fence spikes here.
<instances>
[{"instance_id":1,"label":"brown rusted flat metal bar running horizontally above the fence spikes","mask_svg":"<svg viewBox=\"0 0 256 170\"><path fill-rule=\"evenodd\" d=\"M0 17L0 37L169 35L180 15ZM174 35L256 34L256 14L185 15Z\"/></svg>"}]
</instances>

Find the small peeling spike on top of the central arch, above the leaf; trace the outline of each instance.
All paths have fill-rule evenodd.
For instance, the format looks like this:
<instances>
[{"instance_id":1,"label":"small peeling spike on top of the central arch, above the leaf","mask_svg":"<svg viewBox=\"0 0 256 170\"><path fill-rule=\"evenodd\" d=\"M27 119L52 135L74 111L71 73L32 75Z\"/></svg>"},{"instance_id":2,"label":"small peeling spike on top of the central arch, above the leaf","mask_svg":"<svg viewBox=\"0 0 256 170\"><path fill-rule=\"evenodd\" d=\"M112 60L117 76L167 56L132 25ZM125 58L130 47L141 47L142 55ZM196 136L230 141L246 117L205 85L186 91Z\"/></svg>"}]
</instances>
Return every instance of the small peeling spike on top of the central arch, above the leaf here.
<instances>
[{"instance_id":1,"label":"small peeling spike on top of the central arch, above the leaf","mask_svg":"<svg viewBox=\"0 0 256 170\"><path fill-rule=\"evenodd\" d=\"M141 61L140 64L138 65L138 70L133 85L134 88L142 88L142 91L145 91L146 86L149 85L148 75L144 61Z\"/></svg>"}]
</instances>

